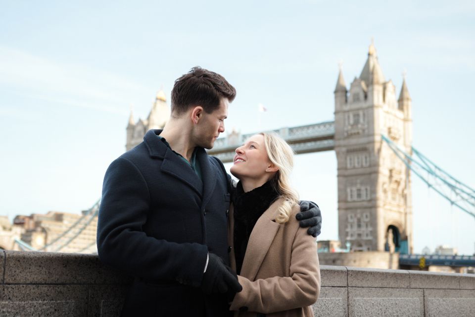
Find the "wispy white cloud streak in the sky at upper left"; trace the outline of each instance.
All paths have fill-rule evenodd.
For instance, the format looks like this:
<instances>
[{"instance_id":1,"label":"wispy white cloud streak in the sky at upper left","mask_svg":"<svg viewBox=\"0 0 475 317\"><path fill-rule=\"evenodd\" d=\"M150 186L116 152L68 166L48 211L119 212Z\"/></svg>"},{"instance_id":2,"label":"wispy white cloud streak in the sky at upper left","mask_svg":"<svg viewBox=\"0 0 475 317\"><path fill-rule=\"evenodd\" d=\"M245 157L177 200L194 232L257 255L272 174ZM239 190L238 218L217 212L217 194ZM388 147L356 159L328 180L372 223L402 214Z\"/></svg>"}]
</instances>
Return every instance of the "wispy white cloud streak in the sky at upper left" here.
<instances>
[{"instance_id":1,"label":"wispy white cloud streak in the sky at upper left","mask_svg":"<svg viewBox=\"0 0 475 317\"><path fill-rule=\"evenodd\" d=\"M7 47L0 47L0 84L30 97L114 113L127 112L133 96L153 91L88 65L60 63Z\"/></svg>"}]
</instances>

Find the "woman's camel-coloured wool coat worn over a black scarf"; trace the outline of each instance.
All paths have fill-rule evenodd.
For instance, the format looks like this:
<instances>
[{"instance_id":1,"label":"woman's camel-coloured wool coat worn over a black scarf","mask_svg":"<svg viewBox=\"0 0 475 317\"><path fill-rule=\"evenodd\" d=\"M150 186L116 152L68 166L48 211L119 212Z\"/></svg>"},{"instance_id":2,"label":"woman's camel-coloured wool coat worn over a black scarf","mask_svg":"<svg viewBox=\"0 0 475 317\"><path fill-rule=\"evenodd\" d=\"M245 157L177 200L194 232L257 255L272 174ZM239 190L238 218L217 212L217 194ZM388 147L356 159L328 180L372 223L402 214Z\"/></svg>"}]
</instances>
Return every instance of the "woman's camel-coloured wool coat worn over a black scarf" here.
<instances>
[{"instance_id":1,"label":"woman's camel-coloured wool coat worn over a black scarf","mask_svg":"<svg viewBox=\"0 0 475 317\"><path fill-rule=\"evenodd\" d=\"M310 307L320 293L320 269L315 238L300 228L295 206L286 223L274 219L283 199L276 200L257 220L249 237L239 283L242 291L231 303L235 316L313 317ZM231 267L234 255L234 206L228 221Z\"/></svg>"}]
</instances>

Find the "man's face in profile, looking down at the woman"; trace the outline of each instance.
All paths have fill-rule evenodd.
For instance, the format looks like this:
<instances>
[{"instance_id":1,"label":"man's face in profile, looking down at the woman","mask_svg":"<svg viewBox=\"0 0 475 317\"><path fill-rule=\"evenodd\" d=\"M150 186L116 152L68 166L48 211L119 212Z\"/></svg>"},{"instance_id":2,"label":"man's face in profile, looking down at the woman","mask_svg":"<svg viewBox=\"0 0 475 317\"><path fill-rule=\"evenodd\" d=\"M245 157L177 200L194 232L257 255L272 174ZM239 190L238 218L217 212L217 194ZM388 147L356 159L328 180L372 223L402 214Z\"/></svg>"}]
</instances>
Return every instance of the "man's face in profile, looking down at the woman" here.
<instances>
[{"instance_id":1,"label":"man's face in profile, looking down at the woman","mask_svg":"<svg viewBox=\"0 0 475 317\"><path fill-rule=\"evenodd\" d=\"M224 132L224 119L228 117L228 98L222 98L219 108L211 113L203 111L202 117L196 126L196 145L205 149L211 149L214 141Z\"/></svg>"}]
</instances>

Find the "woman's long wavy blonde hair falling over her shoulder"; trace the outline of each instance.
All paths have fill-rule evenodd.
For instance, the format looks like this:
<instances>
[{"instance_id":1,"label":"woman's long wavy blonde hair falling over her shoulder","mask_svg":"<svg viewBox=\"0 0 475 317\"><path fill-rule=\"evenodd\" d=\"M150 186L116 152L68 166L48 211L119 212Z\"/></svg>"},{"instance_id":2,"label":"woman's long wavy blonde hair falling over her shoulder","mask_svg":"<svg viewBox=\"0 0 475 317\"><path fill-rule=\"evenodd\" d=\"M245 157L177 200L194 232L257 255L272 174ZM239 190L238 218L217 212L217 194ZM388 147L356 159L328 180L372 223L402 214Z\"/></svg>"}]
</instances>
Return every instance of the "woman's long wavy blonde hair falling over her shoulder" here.
<instances>
[{"instance_id":1,"label":"woman's long wavy blonde hair falling over her shoulder","mask_svg":"<svg viewBox=\"0 0 475 317\"><path fill-rule=\"evenodd\" d=\"M293 168L293 150L280 136L273 132L260 133L264 136L264 144L269 160L279 167L279 170L272 179L274 188L284 198L284 204L279 207L276 222L285 223L288 221L290 212L295 205L298 205L298 194L290 186L290 173Z\"/></svg>"}]
</instances>

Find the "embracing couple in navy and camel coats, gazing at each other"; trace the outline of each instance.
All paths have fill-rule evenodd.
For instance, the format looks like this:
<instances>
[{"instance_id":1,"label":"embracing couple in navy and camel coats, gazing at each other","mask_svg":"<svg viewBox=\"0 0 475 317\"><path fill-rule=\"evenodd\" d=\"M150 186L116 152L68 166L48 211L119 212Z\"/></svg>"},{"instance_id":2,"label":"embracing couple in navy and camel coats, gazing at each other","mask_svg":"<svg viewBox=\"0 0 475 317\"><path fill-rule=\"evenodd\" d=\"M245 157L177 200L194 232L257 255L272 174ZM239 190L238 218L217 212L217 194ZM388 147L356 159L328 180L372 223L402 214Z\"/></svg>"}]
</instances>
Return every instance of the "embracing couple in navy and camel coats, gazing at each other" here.
<instances>
[{"instance_id":1,"label":"embracing couple in navy and camel coats, gazing at each other","mask_svg":"<svg viewBox=\"0 0 475 317\"><path fill-rule=\"evenodd\" d=\"M175 81L163 130L106 171L99 259L134 277L121 316L313 316L321 213L290 186L290 146L259 133L231 173L208 156L235 88L194 67Z\"/></svg>"}]
</instances>

